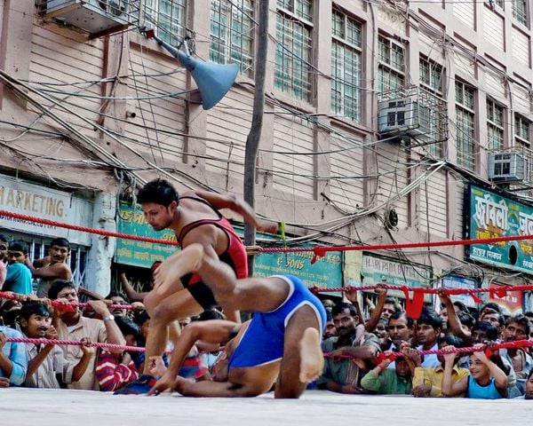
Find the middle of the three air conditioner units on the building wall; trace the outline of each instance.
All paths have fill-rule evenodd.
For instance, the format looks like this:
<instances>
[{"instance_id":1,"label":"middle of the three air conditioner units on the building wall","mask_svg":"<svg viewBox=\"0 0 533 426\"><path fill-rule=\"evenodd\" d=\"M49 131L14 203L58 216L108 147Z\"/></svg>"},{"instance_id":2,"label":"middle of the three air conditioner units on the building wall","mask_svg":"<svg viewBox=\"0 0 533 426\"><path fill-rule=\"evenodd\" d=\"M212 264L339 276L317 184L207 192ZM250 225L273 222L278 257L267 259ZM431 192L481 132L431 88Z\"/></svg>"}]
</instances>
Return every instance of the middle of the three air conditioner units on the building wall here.
<instances>
[{"instance_id":1,"label":"middle of the three air conditioner units on the building wall","mask_svg":"<svg viewBox=\"0 0 533 426\"><path fill-rule=\"evenodd\" d=\"M410 98L378 102L378 131L381 134L403 133L429 136L432 131L432 110Z\"/></svg>"}]
</instances>

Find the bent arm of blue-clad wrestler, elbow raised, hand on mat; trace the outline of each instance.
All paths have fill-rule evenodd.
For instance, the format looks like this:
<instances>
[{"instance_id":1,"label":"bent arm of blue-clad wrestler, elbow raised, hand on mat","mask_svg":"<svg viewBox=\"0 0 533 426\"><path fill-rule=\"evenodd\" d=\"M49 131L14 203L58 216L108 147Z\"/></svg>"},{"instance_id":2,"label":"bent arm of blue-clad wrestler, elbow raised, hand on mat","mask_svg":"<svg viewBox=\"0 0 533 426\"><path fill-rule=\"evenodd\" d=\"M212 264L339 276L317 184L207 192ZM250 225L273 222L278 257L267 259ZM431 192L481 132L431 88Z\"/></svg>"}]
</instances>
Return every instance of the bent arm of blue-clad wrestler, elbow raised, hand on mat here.
<instances>
[{"instance_id":1,"label":"bent arm of blue-clad wrestler, elbow raised, hand on mat","mask_svg":"<svg viewBox=\"0 0 533 426\"><path fill-rule=\"evenodd\" d=\"M241 324L222 319L195 321L184 327L172 352L171 363L166 373L155 383L148 395L157 395L173 386L179 368L197 340L208 343L227 343L240 327Z\"/></svg>"}]
</instances>

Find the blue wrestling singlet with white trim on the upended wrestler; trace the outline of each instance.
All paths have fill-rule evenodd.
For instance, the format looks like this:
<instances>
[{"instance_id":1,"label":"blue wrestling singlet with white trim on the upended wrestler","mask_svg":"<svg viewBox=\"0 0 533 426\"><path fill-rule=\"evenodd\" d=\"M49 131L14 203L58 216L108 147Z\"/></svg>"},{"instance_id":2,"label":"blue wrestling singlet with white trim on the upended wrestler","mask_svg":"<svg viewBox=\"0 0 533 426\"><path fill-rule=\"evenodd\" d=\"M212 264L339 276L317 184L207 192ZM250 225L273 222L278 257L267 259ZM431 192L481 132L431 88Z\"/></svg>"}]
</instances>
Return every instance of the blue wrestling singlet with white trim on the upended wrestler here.
<instances>
[{"instance_id":1,"label":"blue wrestling singlet with white trim on the upended wrestler","mask_svg":"<svg viewBox=\"0 0 533 426\"><path fill-rule=\"evenodd\" d=\"M289 296L272 312L257 312L235 349L229 368L255 367L282 359L285 327L299 307L308 305L316 313L320 334L326 324L326 312L320 299L313 295L299 278L293 275L274 275L289 284Z\"/></svg>"}]
</instances>

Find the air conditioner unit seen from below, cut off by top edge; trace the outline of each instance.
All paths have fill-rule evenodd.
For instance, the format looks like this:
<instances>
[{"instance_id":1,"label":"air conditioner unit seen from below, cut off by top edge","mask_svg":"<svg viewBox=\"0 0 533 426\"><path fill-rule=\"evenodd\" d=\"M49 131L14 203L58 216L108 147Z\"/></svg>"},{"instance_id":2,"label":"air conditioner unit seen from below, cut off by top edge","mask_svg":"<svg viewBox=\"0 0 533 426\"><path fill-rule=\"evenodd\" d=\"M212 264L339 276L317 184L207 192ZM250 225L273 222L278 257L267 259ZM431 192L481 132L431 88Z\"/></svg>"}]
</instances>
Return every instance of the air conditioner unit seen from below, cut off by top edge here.
<instances>
[{"instance_id":1,"label":"air conditioner unit seen from below, cut off by top edge","mask_svg":"<svg viewBox=\"0 0 533 426\"><path fill-rule=\"evenodd\" d=\"M128 25L128 0L48 0L44 16L97 34Z\"/></svg>"}]
</instances>

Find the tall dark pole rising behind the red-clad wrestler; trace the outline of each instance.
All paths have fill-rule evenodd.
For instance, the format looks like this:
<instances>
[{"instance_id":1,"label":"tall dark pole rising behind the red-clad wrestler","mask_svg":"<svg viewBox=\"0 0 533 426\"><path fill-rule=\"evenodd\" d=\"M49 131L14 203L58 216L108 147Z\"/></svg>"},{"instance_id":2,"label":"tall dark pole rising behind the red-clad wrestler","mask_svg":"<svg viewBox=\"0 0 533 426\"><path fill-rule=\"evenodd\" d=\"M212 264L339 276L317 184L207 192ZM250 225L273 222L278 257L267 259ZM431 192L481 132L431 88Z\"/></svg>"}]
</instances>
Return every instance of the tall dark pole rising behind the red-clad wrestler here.
<instances>
[{"instance_id":1,"label":"tall dark pole rising behind the red-clad wrestler","mask_svg":"<svg viewBox=\"0 0 533 426\"><path fill-rule=\"evenodd\" d=\"M259 140L263 129L263 112L265 111L265 74L268 53L268 0L259 3L258 50L255 67L255 94L253 98L253 114L251 129L246 139L244 151L244 201L251 207L255 206L255 173L258 156ZM244 244L255 245L255 230L251 225L244 224ZM253 272L253 256L248 258L250 274Z\"/></svg>"}]
</instances>

